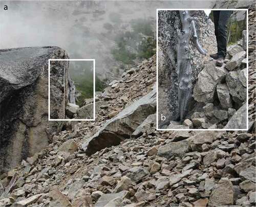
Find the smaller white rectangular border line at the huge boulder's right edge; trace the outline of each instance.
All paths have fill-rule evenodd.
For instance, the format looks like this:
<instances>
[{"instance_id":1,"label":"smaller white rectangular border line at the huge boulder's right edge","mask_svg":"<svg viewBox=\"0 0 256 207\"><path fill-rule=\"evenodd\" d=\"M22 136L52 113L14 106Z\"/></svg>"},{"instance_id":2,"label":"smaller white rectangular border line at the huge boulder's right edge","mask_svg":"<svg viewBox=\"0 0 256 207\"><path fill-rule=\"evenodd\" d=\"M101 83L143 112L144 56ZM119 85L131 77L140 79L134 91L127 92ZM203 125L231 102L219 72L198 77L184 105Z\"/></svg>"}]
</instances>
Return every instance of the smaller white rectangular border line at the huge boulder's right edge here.
<instances>
[{"instance_id":1,"label":"smaller white rectangular border line at the huge boulder's right edge","mask_svg":"<svg viewBox=\"0 0 256 207\"><path fill-rule=\"evenodd\" d=\"M50 62L51 61L93 61L93 119L51 119L50 118ZM95 59L48 59L48 121L95 121Z\"/></svg>"}]
</instances>

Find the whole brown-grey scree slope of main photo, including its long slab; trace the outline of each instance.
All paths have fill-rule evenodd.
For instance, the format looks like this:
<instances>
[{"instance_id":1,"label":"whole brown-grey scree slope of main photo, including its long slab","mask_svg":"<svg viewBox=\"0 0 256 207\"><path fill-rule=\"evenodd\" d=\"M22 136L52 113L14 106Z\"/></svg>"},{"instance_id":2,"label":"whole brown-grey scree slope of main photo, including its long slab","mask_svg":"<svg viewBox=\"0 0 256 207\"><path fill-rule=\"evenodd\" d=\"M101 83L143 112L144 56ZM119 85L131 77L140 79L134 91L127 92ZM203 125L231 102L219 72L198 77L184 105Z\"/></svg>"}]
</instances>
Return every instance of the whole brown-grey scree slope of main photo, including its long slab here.
<instances>
[{"instance_id":1,"label":"whole brown-grey scree slope of main photo, including its long slab","mask_svg":"<svg viewBox=\"0 0 256 207\"><path fill-rule=\"evenodd\" d=\"M65 123L1 175L0 206L255 206L254 131L157 131L155 77L154 56L97 95L97 121Z\"/></svg>"}]
</instances>

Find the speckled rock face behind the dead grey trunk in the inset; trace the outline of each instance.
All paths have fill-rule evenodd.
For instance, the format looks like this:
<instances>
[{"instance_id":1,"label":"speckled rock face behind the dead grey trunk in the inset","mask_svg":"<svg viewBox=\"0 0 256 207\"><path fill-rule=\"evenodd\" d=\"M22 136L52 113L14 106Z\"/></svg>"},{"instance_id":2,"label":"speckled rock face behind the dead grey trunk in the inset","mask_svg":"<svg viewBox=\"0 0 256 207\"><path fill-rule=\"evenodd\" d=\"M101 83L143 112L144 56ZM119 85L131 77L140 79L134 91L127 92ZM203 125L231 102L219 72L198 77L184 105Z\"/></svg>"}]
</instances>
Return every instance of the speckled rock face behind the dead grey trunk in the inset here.
<instances>
[{"instance_id":1,"label":"speckled rock face behind the dead grey trunk in the inset","mask_svg":"<svg viewBox=\"0 0 256 207\"><path fill-rule=\"evenodd\" d=\"M216 46L216 38L214 35L214 25L207 19L204 12L199 11L195 21L199 42L208 53L214 53ZM170 23L171 22L171 23ZM205 30L205 28L208 28ZM179 118L178 107L178 87L177 87L177 43L178 33L180 30L180 17L178 11L159 11L158 16L158 116L161 114L166 116L165 121L159 121L159 127L169 124L170 120ZM196 82L202 65L207 59L202 56L193 43L190 44L191 67L192 67L192 83Z\"/></svg>"}]
</instances>

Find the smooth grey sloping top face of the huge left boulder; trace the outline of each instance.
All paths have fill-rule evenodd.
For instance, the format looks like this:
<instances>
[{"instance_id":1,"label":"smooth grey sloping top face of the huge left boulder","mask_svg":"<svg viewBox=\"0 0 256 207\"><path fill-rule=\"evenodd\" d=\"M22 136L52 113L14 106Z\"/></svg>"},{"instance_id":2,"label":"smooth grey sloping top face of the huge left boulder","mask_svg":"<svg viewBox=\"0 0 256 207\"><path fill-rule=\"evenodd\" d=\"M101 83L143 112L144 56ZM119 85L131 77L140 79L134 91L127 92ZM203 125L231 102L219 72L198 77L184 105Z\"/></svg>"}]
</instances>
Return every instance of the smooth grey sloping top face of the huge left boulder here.
<instances>
[{"instance_id":1,"label":"smooth grey sloping top face of the huge left boulder","mask_svg":"<svg viewBox=\"0 0 256 207\"><path fill-rule=\"evenodd\" d=\"M32 47L0 50L0 100L35 82L41 68L57 47Z\"/></svg>"}]
</instances>

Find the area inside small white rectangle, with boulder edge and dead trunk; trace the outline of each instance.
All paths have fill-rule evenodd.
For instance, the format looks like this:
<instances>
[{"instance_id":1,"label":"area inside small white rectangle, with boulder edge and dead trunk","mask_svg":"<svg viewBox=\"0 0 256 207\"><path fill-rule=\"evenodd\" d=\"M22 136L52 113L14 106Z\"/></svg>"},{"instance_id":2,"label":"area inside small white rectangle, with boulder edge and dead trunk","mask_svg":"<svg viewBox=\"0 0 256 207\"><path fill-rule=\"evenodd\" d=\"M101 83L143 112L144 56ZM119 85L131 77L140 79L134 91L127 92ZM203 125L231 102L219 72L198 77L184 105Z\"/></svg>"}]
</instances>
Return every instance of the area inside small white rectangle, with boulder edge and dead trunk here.
<instances>
[{"instance_id":1,"label":"area inside small white rectangle, with boulder edge and dead trunk","mask_svg":"<svg viewBox=\"0 0 256 207\"><path fill-rule=\"evenodd\" d=\"M95 120L95 60L49 59L49 120Z\"/></svg>"}]
</instances>

